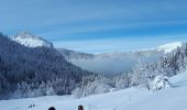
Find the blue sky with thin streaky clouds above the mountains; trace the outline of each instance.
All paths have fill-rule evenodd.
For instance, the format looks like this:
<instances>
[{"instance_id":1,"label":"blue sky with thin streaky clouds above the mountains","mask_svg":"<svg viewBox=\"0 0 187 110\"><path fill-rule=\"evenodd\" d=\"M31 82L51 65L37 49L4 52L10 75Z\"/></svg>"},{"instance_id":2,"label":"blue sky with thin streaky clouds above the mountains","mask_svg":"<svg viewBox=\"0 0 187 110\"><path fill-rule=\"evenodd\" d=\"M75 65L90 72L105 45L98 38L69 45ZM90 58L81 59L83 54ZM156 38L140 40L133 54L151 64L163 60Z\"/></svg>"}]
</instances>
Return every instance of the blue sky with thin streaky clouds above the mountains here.
<instances>
[{"instance_id":1,"label":"blue sky with thin streaky clouds above the mountains","mask_svg":"<svg viewBox=\"0 0 187 110\"><path fill-rule=\"evenodd\" d=\"M187 41L186 0L0 0L0 31L29 31L80 52Z\"/></svg>"}]
</instances>

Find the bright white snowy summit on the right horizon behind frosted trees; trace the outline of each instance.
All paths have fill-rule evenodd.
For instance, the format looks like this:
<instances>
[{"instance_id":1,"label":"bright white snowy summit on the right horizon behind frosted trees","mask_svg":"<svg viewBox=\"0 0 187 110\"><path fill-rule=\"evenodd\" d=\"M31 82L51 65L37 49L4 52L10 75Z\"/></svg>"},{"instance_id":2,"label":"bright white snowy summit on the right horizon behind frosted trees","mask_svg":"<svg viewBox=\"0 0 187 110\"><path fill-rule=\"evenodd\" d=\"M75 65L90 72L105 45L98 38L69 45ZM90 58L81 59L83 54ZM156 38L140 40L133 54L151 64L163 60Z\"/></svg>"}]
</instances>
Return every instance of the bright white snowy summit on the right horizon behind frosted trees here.
<instances>
[{"instance_id":1,"label":"bright white snowy summit on the right horizon behind frosted trees","mask_svg":"<svg viewBox=\"0 0 187 110\"><path fill-rule=\"evenodd\" d=\"M174 50L176 50L177 47L180 47L183 45L182 42L175 42L175 43L169 43L169 44L165 44L165 45L161 45L157 47L158 51L164 51L165 53L170 53Z\"/></svg>"}]
</instances>

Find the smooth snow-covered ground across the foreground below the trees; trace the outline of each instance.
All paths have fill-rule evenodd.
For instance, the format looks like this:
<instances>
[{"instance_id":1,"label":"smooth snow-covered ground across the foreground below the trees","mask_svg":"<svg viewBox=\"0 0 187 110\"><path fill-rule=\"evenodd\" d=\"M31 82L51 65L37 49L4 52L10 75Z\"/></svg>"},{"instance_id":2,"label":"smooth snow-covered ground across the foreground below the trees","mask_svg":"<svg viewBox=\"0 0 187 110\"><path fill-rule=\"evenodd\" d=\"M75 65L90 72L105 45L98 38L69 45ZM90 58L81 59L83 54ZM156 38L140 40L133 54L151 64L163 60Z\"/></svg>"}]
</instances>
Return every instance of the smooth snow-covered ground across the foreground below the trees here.
<instances>
[{"instance_id":1,"label":"smooth snow-covered ground across the foreground below the trees","mask_svg":"<svg viewBox=\"0 0 187 110\"><path fill-rule=\"evenodd\" d=\"M142 88L129 88L109 94L95 95L81 99L73 96L48 96L14 100L1 100L1 110L187 110L187 72L169 78L173 88L148 91ZM29 108L30 105L35 105Z\"/></svg>"}]
</instances>

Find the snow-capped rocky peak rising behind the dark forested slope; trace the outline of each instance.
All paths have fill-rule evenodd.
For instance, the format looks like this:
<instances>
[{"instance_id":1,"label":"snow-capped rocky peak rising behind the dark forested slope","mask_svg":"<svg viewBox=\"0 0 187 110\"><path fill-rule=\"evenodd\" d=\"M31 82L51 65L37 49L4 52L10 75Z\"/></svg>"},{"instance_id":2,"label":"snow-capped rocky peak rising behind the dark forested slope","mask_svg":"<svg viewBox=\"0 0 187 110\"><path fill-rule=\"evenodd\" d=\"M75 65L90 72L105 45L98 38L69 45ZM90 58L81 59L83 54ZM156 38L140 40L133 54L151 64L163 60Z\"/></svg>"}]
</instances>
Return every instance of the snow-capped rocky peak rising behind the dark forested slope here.
<instances>
[{"instance_id":1,"label":"snow-capped rocky peak rising behind the dark forested slope","mask_svg":"<svg viewBox=\"0 0 187 110\"><path fill-rule=\"evenodd\" d=\"M30 32L20 32L16 35L11 36L11 38L28 47L38 47L38 46L53 47L53 43L40 36L33 35Z\"/></svg>"}]
</instances>

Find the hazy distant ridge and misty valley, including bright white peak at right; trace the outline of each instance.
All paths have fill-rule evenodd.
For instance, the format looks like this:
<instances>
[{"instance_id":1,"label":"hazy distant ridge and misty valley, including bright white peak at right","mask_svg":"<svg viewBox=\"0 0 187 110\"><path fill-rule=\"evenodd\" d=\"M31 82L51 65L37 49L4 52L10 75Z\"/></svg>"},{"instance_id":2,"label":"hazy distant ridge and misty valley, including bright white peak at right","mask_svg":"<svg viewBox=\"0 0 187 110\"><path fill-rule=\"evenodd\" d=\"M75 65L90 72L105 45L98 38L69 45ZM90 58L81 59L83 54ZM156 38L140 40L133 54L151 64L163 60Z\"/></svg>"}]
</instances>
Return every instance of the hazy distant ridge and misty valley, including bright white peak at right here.
<instances>
[{"instance_id":1,"label":"hazy distant ridge and misty valley, including bright white peak at right","mask_svg":"<svg viewBox=\"0 0 187 110\"><path fill-rule=\"evenodd\" d=\"M62 48L58 48L58 51L68 62L86 70L105 75L118 75L131 72L140 62L157 62L161 56L172 53L182 44L176 42L155 48L124 53L87 54Z\"/></svg>"}]
</instances>

